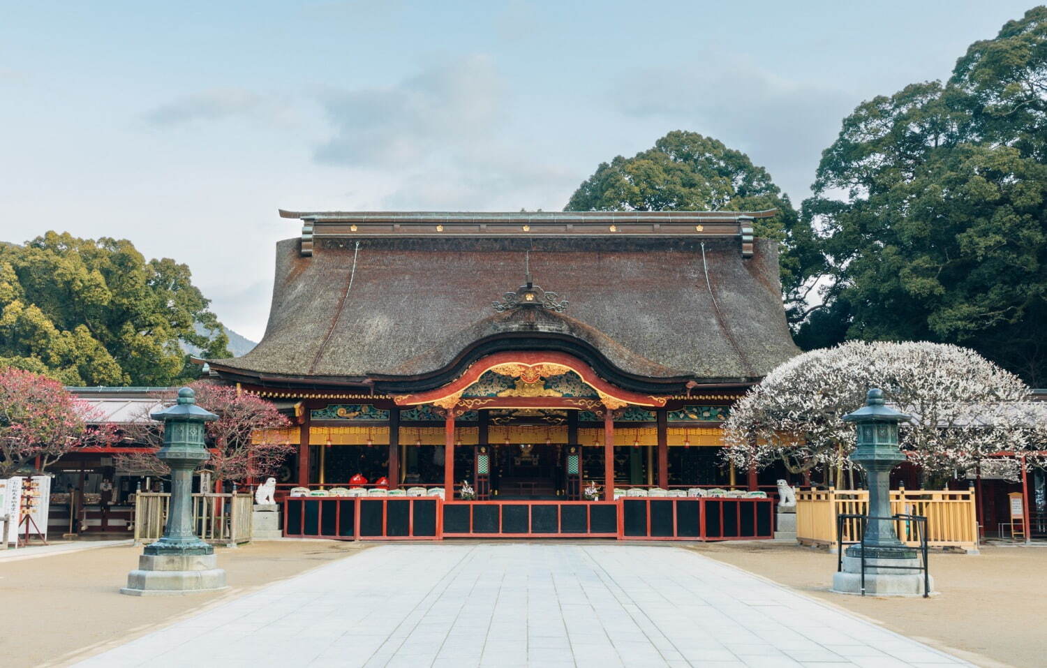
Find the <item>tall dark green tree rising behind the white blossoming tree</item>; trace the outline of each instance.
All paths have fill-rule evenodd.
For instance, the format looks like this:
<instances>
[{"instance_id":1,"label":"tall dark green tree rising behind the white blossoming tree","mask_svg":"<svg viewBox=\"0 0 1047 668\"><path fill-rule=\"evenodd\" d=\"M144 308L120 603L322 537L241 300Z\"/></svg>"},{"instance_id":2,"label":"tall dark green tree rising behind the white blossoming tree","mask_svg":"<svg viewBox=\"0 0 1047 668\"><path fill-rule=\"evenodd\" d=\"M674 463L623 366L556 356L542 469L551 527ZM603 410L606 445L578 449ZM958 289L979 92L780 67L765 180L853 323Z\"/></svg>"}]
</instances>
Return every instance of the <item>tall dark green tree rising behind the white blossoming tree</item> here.
<instances>
[{"instance_id":1,"label":"tall dark green tree rising behind the white blossoming tree","mask_svg":"<svg viewBox=\"0 0 1047 668\"><path fill-rule=\"evenodd\" d=\"M798 342L961 343L1047 381L1045 119L1043 6L973 44L945 84L860 105L803 204L830 279Z\"/></svg>"}]
</instances>

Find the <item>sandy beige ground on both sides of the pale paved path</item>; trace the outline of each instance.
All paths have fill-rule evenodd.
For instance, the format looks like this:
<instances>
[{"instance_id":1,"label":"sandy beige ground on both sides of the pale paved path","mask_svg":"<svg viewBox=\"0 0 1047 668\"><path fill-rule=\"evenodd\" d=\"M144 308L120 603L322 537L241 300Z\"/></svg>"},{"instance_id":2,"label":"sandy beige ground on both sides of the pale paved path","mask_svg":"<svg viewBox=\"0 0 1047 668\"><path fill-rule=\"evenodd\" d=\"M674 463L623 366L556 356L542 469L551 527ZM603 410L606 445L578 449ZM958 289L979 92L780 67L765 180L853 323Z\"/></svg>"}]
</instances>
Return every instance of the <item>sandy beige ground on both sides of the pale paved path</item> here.
<instances>
[{"instance_id":1,"label":"sandy beige ground on both sides of the pale paved path","mask_svg":"<svg viewBox=\"0 0 1047 668\"><path fill-rule=\"evenodd\" d=\"M117 593L141 548L0 561L0 601L4 609L17 611L6 616L3 664L20 668L71 663L365 548L366 543L280 540L220 549L219 562L228 572L230 591L147 599ZM831 594L836 556L823 551L770 541L690 549L982 666L1047 665L1040 638L1047 620L1045 548L986 547L978 556L934 553L931 572L941 594L926 600Z\"/></svg>"}]
</instances>

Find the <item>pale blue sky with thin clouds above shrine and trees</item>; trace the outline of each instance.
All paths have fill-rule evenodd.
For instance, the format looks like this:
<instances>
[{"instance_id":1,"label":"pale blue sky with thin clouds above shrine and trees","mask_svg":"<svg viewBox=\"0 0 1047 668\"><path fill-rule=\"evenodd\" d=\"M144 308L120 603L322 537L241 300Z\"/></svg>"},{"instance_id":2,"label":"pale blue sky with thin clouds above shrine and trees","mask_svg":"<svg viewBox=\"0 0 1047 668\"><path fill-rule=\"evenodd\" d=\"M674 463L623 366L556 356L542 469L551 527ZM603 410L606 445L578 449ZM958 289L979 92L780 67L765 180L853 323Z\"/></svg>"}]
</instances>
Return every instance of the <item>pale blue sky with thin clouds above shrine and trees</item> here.
<instances>
[{"instance_id":1,"label":"pale blue sky with thin clouds above shrine and trees","mask_svg":"<svg viewBox=\"0 0 1047 668\"><path fill-rule=\"evenodd\" d=\"M0 241L130 239L259 340L292 210L562 209L689 130L799 203L860 103L1009 0L0 0Z\"/></svg>"}]
</instances>

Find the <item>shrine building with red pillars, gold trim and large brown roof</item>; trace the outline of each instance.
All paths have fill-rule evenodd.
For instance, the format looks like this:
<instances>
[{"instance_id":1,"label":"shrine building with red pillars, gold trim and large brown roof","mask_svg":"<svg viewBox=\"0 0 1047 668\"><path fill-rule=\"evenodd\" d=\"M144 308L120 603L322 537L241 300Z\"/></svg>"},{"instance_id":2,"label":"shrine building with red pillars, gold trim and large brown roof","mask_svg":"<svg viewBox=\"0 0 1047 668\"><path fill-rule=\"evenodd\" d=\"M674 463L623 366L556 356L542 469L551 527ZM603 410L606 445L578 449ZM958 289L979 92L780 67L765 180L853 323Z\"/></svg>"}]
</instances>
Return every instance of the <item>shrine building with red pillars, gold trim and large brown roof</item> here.
<instances>
[{"instance_id":1,"label":"shrine building with red pillars, gold trim and large brown roof","mask_svg":"<svg viewBox=\"0 0 1047 668\"><path fill-rule=\"evenodd\" d=\"M798 353L774 210L284 211L265 336L211 374L293 410L281 489L477 499L740 486L732 403ZM736 477L737 476L737 477ZM385 483L385 481L381 481Z\"/></svg>"}]
</instances>

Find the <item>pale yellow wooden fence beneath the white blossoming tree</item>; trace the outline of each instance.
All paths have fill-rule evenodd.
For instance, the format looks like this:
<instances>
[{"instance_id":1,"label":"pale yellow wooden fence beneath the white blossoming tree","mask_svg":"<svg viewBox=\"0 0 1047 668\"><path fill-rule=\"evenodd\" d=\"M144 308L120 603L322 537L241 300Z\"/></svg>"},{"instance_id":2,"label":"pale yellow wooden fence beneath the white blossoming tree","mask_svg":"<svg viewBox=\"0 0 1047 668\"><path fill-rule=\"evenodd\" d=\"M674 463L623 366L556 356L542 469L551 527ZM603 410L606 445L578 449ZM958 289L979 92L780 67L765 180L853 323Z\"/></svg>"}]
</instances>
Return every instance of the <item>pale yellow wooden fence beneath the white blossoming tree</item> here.
<instances>
[{"instance_id":1,"label":"pale yellow wooden fence beneath the white blossoming tree","mask_svg":"<svg viewBox=\"0 0 1047 668\"><path fill-rule=\"evenodd\" d=\"M837 516L865 514L868 490L807 490L796 495L796 534L803 544L837 545ZM891 490L891 514L927 517L927 542L932 548L978 549L978 515L974 490ZM898 521L898 538L919 544L915 527ZM857 521L844 522L844 540L857 540Z\"/></svg>"}]
</instances>

